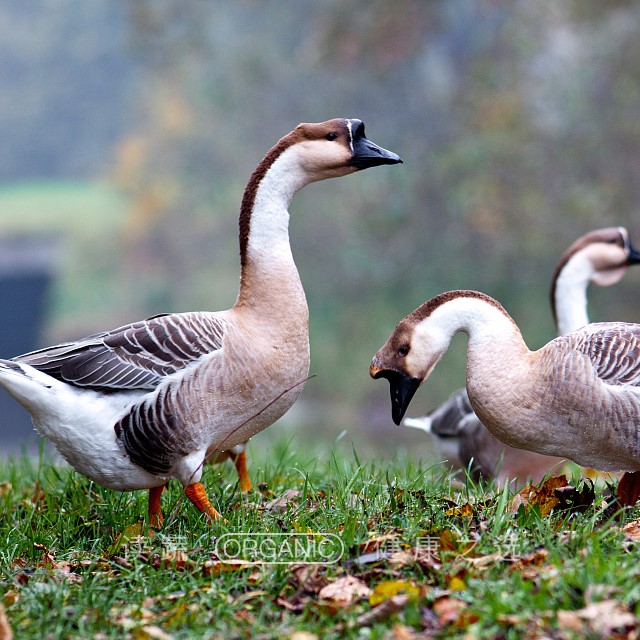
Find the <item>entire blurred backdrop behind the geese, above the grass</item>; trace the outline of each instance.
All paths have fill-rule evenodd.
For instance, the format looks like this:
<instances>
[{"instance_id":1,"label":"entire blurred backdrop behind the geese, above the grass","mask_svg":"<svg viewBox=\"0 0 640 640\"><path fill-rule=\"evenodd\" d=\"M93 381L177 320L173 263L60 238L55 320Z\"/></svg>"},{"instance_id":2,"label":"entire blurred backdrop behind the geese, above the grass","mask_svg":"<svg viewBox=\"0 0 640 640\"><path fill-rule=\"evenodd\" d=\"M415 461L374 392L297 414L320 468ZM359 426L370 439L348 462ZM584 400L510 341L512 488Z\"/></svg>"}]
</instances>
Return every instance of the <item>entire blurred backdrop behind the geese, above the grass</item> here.
<instances>
[{"instance_id":1,"label":"entire blurred backdrop behind the geese, above the grass","mask_svg":"<svg viewBox=\"0 0 640 640\"><path fill-rule=\"evenodd\" d=\"M254 167L299 122L357 117L405 164L295 198L317 375L254 442L427 455L368 376L400 318L479 289L535 348L574 239L640 244L638 33L631 0L3 3L0 357L231 306ZM640 320L639 278L592 289L591 319ZM456 337L409 413L462 386L464 357ZM0 394L0 449L33 444Z\"/></svg>"}]
</instances>

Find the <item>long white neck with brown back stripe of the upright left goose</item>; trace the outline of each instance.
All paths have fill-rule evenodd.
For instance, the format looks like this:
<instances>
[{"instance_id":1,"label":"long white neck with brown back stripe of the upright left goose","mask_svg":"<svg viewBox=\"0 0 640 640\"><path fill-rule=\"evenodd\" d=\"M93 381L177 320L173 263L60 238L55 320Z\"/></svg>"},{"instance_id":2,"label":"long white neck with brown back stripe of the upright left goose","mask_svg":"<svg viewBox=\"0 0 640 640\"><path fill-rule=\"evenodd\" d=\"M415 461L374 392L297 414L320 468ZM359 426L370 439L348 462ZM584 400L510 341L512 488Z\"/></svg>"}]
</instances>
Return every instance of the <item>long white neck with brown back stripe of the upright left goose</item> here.
<instances>
[{"instance_id":1,"label":"long white neck with brown back stripe of the upright left goose","mask_svg":"<svg viewBox=\"0 0 640 640\"><path fill-rule=\"evenodd\" d=\"M236 306L274 308L306 300L289 244L289 204L310 182L283 138L253 173L240 211L240 292ZM274 300L279 304L274 306ZM283 309L284 310L284 309Z\"/></svg>"}]
</instances>

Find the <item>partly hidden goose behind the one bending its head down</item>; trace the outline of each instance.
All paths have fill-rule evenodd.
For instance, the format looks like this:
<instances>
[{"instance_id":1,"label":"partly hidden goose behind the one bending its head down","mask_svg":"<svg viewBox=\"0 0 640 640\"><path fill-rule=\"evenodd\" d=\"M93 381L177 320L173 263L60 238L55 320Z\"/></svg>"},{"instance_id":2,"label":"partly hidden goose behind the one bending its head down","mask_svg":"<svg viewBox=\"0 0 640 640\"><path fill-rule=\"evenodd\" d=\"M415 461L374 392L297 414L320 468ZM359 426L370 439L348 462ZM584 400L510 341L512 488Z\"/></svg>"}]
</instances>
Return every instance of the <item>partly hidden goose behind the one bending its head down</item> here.
<instances>
[{"instance_id":1,"label":"partly hidden goose behind the one bending its head down","mask_svg":"<svg viewBox=\"0 0 640 640\"><path fill-rule=\"evenodd\" d=\"M562 335L589 324L587 288L618 283L627 268L640 263L624 227L595 229L580 236L564 251L555 267L550 299L553 319ZM454 468L472 465L473 476L516 485L527 479L539 482L559 458L514 449L491 435L473 411L467 390L459 389L426 416L410 418L403 426L434 436L442 459Z\"/></svg>"}]
</instances>

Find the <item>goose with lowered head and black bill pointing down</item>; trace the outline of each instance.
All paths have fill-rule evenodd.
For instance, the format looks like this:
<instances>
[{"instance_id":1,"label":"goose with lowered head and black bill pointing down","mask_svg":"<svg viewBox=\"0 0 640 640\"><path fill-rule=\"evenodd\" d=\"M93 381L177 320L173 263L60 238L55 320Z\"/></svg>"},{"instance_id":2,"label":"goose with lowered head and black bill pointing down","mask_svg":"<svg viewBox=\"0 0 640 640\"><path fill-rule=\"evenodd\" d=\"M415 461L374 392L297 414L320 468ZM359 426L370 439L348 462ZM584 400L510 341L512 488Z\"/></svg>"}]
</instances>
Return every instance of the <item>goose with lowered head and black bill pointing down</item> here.
<instances>
[{"instance_id":1,"label":"goose with lowered head and black bill pointing down","mask_svg":"<svg viewBox=\"0 0 640 640\"><path fill-rule=\"evenodd\" d=\"M477 291L441 293L401 320L371 362L371 377L389 381L396 424L460 331L468 336L469 401L492 435L517 449L628 472L618 499L635 503L640 325L588 324L530 351L498 301Z\"/></svg>"}]
</instances>

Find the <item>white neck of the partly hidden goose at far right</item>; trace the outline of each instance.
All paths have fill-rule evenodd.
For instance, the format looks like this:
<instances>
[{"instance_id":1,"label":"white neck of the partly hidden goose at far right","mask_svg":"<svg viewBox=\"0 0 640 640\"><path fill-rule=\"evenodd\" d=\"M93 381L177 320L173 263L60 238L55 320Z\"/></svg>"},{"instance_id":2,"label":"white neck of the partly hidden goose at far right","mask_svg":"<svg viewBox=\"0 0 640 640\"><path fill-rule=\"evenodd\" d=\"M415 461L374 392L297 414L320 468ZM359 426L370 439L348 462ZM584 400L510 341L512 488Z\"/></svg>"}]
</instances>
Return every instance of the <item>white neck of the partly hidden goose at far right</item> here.
<instances>
[{"instance_id":1,"label":"white neck of the partly hidden goose at far right","mask_svg":"<svg viewBox=\"0 0 640 640\"><path fill-rule=\"evenodd\" d=\"M576 254L556 276L552 287L552 309L559 335L589 324L587 288L592 274L591 262Z\"/></svg>"}]
</instances>

